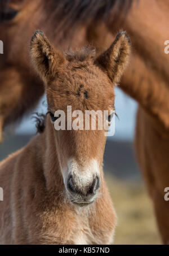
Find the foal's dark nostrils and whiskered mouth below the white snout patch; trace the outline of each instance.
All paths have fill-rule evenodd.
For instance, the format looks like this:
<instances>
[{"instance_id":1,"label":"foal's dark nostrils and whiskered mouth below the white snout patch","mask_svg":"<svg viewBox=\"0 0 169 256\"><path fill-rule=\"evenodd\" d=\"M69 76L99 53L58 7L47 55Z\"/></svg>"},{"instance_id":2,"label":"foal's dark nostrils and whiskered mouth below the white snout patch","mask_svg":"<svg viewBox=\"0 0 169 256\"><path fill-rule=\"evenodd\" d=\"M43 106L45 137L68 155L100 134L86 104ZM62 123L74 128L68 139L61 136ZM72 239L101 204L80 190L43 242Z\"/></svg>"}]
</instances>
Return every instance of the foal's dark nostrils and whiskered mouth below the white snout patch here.
<instances>
[{"instance_id":1,"label":"foal's dark nostrils and whiskered mouth below the white snout patch","mask_svg":"<svg viewBox=\"0 0 169 256\"><path fill-rule=\"evenodd\" d=\"M86 206L94 202L96 194L100 187L100 179L96 176L90 184L84 185L77 183L73 175L69 175L67 181L67 190L72 203L79 206Z\"/></svg>"}]
</instances>

